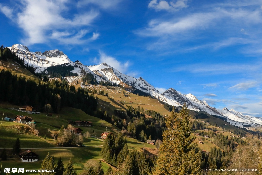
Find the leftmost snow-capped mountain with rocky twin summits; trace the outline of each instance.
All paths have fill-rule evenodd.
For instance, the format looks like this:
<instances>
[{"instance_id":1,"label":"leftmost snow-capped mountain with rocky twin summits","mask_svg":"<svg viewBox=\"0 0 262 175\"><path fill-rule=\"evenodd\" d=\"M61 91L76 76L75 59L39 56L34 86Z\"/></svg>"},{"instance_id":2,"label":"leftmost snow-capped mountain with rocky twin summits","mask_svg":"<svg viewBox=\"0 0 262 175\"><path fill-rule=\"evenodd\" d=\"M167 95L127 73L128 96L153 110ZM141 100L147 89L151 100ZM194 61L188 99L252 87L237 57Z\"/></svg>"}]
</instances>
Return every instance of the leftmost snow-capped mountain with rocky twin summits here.
<instances>
[{"instance_id":1,"label":"leftmost snow-capped mountain with rocky twin summits","mask_svg":"<svg viewBox=\"0 0 262 175\"><path fill-rule=\"evenodd\" d=\"M71 63L72 61L65 55L62 51L59 50L49 50L45 52L31 52L28 47L21 44L14 44L9 47L10 50L15 52L18 56L24 59L25 64L33 65L36 68L37 72L43 71L45 68L63 64Z\"/></svg>"}]
</instances>

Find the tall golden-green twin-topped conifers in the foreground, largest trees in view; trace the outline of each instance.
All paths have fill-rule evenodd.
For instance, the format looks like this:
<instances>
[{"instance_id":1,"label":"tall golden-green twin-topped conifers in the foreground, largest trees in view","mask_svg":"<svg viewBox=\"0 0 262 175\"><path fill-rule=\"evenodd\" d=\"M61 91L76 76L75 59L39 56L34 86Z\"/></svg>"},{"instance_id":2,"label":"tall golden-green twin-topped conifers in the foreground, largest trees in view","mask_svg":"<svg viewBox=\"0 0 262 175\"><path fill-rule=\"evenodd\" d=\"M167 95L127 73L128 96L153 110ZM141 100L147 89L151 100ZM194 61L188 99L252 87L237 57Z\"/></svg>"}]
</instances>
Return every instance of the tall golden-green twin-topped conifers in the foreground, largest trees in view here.
<instances>
[{"instance_id":1,"label":"tall golden-green twin-topped conifers in the foreground, largest trees in view","mask_svg":"<svg viewBox=\"0 0 262 175\"><path fill-rule=\"evenodd\" d=\"M180 116L173 108L171 115L166 118L166 126L153 174L200 174L200 152L193 142L195 137L190 136L192 124L185 104Z\"/></svg>"}]
</instances>

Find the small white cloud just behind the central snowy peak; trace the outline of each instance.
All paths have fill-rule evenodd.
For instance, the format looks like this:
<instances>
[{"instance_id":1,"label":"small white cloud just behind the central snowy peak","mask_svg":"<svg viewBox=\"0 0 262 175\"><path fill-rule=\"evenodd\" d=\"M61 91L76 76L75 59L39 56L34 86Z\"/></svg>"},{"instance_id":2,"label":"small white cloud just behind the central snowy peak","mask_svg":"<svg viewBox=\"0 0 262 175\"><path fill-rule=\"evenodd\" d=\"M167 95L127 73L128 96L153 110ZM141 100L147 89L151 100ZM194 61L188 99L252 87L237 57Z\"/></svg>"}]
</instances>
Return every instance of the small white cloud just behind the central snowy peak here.
<instances>
[{"instance_id":1,"label":"small white cloud just behind the central snowy peak","mask_svg":"<svg viewBox=\"0 0 262 175\"><path fill-rule=\"evenodd\" d=\"M118 61L116 58L106 55L104 52L99 50L99 60L97 63L106 62L110 66L116 68L118 71L125 73L130 65L129 61L124 63Z\"/></svg>"}]
</instances>

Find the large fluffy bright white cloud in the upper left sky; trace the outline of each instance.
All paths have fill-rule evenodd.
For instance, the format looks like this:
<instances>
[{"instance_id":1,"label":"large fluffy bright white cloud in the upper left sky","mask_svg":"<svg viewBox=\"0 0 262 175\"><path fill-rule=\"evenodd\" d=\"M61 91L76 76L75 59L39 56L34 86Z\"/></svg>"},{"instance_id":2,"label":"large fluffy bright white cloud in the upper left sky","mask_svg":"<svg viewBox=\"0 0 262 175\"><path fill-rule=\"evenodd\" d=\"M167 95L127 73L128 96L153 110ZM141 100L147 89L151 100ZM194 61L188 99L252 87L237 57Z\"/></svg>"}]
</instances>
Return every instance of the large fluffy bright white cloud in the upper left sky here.
<instances>
[{"instance_id":1,"label":"large fluffy bright white cloud in the upper left sky","mask_svg":"<svg viewBox=\"0 0 262 175\"><path fill-rule=\"evenodd\" d=\"M1 5L1 4L0 4ZM47 43L50 39L58 40L62 44L81 44L97 39L98 33L93 33L90 39L83 39L89 32L91 25L99 12L89 10L76 13L72 18L63 14L69 9L66 0L23 0L20 10L10 9L1 5L1 12L17 23L24 30L26 38L23 44Z\"/></svg>"}]
</instances>

